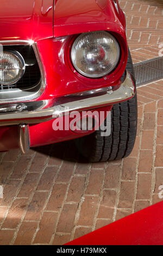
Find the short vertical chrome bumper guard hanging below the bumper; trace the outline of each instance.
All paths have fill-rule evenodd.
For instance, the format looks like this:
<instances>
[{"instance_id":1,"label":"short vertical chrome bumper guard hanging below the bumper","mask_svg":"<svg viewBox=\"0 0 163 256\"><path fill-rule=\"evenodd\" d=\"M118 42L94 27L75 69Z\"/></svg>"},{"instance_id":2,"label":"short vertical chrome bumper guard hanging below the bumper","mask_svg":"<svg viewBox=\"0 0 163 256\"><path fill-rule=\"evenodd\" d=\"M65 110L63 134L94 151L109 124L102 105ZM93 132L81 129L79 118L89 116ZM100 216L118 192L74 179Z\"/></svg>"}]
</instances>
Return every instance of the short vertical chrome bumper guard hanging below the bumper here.
<instances>
[{"instance_id":1,"label":"short vertical chrome bumper guard hanging below the bumper","mask_svg":"<svg viewBox=\"0 0 163 256\"><path fill-rule=\"evenodd\" d=\"M18 126L18 136L19 136L19 147L23 154L27 153L30 148L30 135L29 126L20 125Z\"/></svg>"}]
</instances>

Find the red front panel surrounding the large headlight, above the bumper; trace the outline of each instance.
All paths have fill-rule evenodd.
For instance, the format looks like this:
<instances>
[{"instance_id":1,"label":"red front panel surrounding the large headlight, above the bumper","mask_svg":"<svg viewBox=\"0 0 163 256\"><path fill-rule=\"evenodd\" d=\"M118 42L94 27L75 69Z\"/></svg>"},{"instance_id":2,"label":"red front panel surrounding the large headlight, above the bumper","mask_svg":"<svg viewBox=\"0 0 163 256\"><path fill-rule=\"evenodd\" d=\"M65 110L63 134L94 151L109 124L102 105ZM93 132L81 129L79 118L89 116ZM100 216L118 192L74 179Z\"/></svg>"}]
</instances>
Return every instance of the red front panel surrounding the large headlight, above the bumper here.
<instances>
[{"instance_id":1,"label":"red front panel surrounding the large headlight, above the bumper","mask_svg":"<svg viewBox=\"0 0 163 256\"><path fill-rule=\"evenodd\" d=\"M111 75L100 79L86 78L77 75L72 65L68 62L68 50L71 46L71 36L64 36L57 39L46 39L37 42L43 68L46 72L46 89L40 96L42 99L53 99L56 96L83 92L85 90L98 89L108 86L117 86L120 83L127 63L127 44L123 44L121 60ZM47 54L48 49L48 54ZM67 51L66 51L67 49Z\"/></svg>"}]
</instances>

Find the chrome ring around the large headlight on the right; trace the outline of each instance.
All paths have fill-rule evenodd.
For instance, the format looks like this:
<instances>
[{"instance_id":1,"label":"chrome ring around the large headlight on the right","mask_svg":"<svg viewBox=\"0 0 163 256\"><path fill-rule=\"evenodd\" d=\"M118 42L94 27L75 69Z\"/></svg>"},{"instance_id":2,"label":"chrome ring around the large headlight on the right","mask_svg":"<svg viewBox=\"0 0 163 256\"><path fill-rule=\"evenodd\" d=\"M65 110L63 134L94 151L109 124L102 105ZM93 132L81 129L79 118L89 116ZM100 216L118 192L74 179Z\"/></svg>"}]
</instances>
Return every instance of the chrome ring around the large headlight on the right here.
<instances>
[{"instance_id":1,"label":"chrome ring around the large headlight on the right","mask_svg":"<svg viewBox=\"0 0 163 256\"><path fill-rule=\"evenodd\" d=\"M110 68L106 68L105 71L101 72L101 74L87 74L84 72L82 69L78 67L76 64L76 45L80 41L81 38L84 38L84 36L95 36L96 34L103 33L103 35L108 36L108 38L112 41L112 44L114 44L116 48L116 58L114 64ZM116 66L118 65L118 62L120 60L121 56L121 48L118 44L117 39L115 38L114 35L110 34L108 31L93 31L93 32L88 32L88 33L83 33L77 36L77 38L73 41L72 46L71 46L71 51L70 51L70 59L71 63L74 67L74 69L78 72L78 74L87 77L87 78L102 78L104 76L108 76L112 71L115 70Z\"/></svg>"}]
</instances>

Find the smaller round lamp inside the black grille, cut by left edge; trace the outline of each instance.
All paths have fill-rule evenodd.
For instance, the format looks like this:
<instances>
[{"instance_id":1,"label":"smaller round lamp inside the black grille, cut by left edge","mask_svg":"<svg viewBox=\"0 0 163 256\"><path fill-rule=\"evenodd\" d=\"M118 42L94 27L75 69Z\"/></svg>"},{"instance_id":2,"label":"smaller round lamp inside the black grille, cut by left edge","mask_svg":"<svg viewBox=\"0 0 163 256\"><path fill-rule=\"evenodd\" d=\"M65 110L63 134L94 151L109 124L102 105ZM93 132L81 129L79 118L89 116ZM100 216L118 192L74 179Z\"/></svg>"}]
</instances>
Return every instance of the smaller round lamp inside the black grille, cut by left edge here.
<instances>
[{"instance_id":1,"label":"smaller round lamp inside the black grille, cut by left edge","mask_svg":"<svg viewBox=\"0 0 163 256\"><path fill-rule=\"evenodd\" d=\"M0 84L10 85L21 79L25 71L24 59L16 51L0 52Z\"/></svg>"}]
</instances>

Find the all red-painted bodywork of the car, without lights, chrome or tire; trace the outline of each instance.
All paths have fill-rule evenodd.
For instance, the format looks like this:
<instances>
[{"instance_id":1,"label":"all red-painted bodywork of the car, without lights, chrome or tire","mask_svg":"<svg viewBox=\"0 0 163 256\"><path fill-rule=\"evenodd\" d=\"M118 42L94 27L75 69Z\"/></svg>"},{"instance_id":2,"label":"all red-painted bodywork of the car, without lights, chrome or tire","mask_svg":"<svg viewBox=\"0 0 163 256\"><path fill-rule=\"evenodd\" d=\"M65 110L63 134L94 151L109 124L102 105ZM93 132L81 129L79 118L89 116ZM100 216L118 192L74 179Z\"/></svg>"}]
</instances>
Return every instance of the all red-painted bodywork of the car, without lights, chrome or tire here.
<instances>
[{"instance_id":1,"label":"all red-painted bodywork of the car, without lights, chrome or tire","mask_svg":"<svg viewBox=\"0 0 163 256\"><path fill-rule=\"evenodd\" d=\"M37 43L46 76L46 87L37 100L83 92L108 86L118 86L126 69L128 48L126 21L113 0L1 0L0 40L33 40ZM105 78L91 79L80 76L70 61L72 42L80 33L108 31L120 47L121 58L117 68ZM111 105L103 110L110 111ZM55 132L52 121L30 125L30 145L51 144L79 135L71 131ZM18 147L15 126L0 127L0 151ZM90 132L89 132L90 133Z\"/></svg>"}]
</instances>

